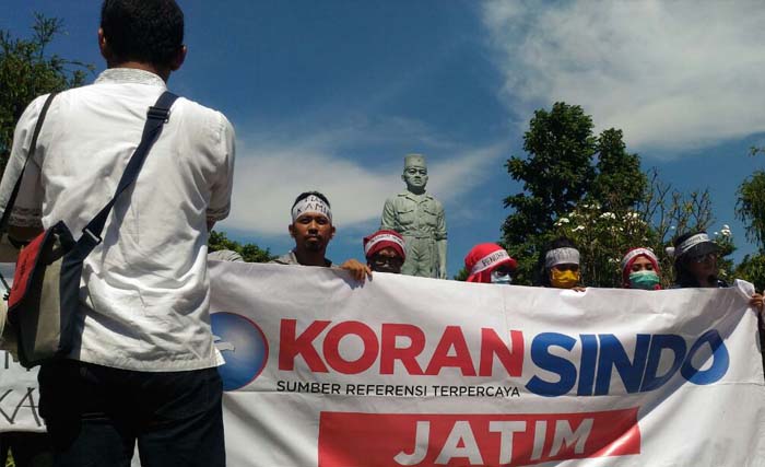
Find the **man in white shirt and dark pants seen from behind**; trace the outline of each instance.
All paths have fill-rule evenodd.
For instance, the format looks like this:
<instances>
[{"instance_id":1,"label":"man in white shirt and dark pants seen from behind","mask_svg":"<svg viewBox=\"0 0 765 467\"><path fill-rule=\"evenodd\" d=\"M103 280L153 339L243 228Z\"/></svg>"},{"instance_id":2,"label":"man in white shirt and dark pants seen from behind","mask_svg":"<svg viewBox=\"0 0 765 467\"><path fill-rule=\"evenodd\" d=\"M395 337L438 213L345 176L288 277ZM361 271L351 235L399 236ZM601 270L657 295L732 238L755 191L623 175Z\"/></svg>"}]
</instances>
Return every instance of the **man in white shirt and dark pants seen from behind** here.
<instances>
[{"instance_id":1,"label":"man in white shirt and dark pants seen from behind","mask_svg":"<svg viewBox=\"0 0 765 467\"><path fill-rule=\"evenodd\" d=\"M186 57L173 0L106 0L94 84L57 95L12 211L30 238L58 221L78 235L111 198L146 110ZM0 184L4 209L45 96L21 117ZM228 214L234 130L185 98L85 259L75 348L40 367L57 466L224 466L221 363L210 330L208 231Z\"/></svg>"}]
</instances>

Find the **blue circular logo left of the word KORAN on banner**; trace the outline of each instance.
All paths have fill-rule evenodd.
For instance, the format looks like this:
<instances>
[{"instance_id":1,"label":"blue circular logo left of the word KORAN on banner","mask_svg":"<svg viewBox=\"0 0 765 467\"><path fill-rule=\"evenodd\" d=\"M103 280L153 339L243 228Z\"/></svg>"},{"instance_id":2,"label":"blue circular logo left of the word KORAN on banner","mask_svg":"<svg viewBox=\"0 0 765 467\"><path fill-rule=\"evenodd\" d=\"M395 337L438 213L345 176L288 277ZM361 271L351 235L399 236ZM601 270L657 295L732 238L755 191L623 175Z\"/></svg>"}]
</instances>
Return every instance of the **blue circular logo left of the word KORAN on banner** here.
<instances>
[{"instance_id":1,"label":"blue circular logo left of the word KORAN on banner","mask_svg":"<svg viewBox=\"0 0 765 467\"><path fill-rule=\"evenodd\" d=\"M217 367L223 390L236 390L254 382L266 367L268 341L260 327L242 315L210 315L215 347L226 363Z\"/></svg>"}]
</instances>

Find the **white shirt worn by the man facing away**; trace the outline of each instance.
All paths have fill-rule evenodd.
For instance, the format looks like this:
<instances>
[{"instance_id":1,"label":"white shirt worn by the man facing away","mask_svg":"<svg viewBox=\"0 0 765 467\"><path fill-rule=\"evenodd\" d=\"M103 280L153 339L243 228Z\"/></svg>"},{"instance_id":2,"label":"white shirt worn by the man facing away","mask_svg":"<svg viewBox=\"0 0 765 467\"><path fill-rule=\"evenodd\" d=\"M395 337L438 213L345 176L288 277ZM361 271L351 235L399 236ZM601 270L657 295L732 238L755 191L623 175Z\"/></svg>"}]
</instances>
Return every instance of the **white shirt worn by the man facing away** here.
<instances>
[{"instance_id":1,"label":"white shirt worn by the man facing away","mask_svg":"<svg viewBox=\"0 0 765 467\"><path fill-rule=\"evenodd\" d=\"M64 221L75 238L111 198L166 90L148 71L108 69L54 98L11 223ZM46 96L16 126L0 184L4 209ZM178 98L132 187L85 259L81 341L70 358L118 369L183 371L220 363L210 330L208 221L228 214L234 129L219 112Z\"/></svg>"}]
</instances>

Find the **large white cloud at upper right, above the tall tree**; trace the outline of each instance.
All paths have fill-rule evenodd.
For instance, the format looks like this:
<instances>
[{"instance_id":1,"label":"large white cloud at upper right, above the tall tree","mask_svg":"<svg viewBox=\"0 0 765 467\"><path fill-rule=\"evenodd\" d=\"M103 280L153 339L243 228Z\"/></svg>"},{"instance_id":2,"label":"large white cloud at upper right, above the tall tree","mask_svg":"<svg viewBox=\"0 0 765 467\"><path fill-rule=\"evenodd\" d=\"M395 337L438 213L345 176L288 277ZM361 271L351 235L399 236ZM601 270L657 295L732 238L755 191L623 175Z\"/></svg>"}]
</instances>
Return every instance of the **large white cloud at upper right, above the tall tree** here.
<instances>
[{"instance_id":1,"label":"large white cloud at upper right, above the tall tree","mask_svg":"<svg viewBox=\"0 0 765 467\"><path fill-rule=\"evenodd\" d=\"M487 1L482 20L507 104L526 115L578 104L631 148L765 131L760 1Z\"/></svg>"}]
</instances>

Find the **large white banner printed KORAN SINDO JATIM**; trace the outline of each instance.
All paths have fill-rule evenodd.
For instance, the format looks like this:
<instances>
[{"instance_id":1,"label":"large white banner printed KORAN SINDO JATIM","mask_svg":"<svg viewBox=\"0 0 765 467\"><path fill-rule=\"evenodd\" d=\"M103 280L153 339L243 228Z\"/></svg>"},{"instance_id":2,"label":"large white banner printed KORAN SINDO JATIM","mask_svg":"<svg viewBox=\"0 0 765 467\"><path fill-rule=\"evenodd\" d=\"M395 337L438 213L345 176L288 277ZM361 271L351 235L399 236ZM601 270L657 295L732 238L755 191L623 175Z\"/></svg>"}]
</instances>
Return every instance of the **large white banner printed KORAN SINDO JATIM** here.
<instances>
[{"instance_id":1,"label":"large white banner printed KORAN SINDO JATIM","mask_svg":"<svg viewBox=\"0 0 765 467\"><path fill-rule=\"evenodd\" d=\"M232 467L765 465L749 283L210 270Z\"/></svg>"}]
</instances>

